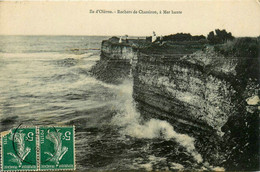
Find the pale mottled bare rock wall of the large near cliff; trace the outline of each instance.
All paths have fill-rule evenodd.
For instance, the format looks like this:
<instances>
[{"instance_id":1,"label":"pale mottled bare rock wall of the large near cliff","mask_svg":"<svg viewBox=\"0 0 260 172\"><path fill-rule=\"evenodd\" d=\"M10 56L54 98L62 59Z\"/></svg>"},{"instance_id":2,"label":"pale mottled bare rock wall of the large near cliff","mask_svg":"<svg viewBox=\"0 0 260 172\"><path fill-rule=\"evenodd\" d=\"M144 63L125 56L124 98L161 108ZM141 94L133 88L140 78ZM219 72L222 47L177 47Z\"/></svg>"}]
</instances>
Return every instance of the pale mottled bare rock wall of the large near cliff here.
<instances>
[{"instance_id":1,"label":"pale mottled bare rock wall of the large near cliff","mask_svg":"<svg viewBox=\"0 0 260 172\"><path fill-rule=\"evenodd\" d=\"M221 134L221 127L236 112L232 101L236 91L230 83L236 74L233 61L212 50L182 57L140 53L134 98L142 102L141 111L149 105L166 112L169 120Z\"/></svg>"}]
</instances>

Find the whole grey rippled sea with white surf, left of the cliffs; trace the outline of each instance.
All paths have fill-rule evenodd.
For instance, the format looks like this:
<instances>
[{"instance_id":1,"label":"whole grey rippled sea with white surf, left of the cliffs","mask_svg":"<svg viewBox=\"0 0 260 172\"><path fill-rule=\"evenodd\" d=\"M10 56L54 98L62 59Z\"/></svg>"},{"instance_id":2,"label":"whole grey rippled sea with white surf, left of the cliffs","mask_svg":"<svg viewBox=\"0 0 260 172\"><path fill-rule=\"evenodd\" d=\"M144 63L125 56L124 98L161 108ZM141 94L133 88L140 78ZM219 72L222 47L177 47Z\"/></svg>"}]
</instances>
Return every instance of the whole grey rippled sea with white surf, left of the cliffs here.
<instances>
[{"instance_id":1,"label":"whole grey rippled sea with white surf, left of the cliffs","mask_svg":"<svg viewBox=\"0 0 260 172\"><path fill-rule=\"evenodd\" d=\"M92 77L107 38L1 36L0 131L75 125L78 170L214 169L194 138L167 121L141 121L131 79L113 85Z\"/></svg>"}]
</instances>

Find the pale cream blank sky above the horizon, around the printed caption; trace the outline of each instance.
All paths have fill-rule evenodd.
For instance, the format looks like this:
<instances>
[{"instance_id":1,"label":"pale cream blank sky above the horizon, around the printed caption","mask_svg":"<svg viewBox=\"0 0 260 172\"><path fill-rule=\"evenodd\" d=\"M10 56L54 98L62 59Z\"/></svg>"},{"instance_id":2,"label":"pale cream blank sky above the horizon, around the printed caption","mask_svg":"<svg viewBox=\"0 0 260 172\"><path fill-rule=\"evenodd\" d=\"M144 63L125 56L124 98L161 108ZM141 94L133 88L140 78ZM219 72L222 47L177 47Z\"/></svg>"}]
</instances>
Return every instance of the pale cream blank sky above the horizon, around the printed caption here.
<instances>
[{"instance_id":1,"label":"pale cream blank sky above the horizon, around the printed caption","mask_svg":"<svg viewBox=\"0 0 260 172\"><path fill-rule=\"evenodd\" d=\"M93 10L181 11L182 14L108 14ZM226 29L234 36L260 35L258 0L0 1L0 35L132 35Z\"/></svg>"}]
</instances>

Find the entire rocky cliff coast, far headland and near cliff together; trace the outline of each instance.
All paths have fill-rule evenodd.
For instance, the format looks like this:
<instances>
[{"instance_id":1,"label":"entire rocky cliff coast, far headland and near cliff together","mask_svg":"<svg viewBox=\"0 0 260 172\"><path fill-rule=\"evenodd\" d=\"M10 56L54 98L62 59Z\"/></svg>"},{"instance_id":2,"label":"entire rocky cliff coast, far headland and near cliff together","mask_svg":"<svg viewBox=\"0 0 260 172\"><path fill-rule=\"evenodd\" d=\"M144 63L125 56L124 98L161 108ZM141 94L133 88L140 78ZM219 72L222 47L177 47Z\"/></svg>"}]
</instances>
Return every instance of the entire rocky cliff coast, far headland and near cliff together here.
<instances>
[{"instance_id":1,"label":"entire rocky cliff coast, far headland and near cliff together","mask_svg":"<svg viewBox=\"0 0 260 172\"><path fill-rule=\"evenodd\" d=\"M227 170L259 169L259 40L219 45L171 42L138 46L102 42L92 72L107 82L133 78L144 119L170 122Z\"/></svg>"}]
</instances>

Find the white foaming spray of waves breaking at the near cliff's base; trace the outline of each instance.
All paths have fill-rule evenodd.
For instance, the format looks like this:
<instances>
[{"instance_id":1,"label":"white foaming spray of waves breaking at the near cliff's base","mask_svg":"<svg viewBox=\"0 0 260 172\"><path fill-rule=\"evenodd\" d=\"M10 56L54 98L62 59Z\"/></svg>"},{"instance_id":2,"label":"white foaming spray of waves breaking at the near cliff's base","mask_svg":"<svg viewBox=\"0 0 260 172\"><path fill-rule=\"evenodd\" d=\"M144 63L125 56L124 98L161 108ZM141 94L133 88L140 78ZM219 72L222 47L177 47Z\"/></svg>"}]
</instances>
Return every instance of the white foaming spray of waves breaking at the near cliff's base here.
<instances>
[{"instance_id":1,"label":"white foaming spray of waves breaking at the near cliff's base","mask_svg":"<svg viewBox=\"0 0 260 172\"><path fill-rule=\"evenodd\" d=\"M105 85L104 85L105 86ZM137 138L164 138L166 140L174 139L180 145L186 148L193 158L202 163L201 155L196 151L194 146L195 139L174 131L173 126L167 121L150 119L141 123L140 113L136 111L132 98L132 82L125 81L118 88L118 98L122 101L117 105L119 113L112 119L112 123L122 127L122 134Z\"/></svg>"}]
</instances>

